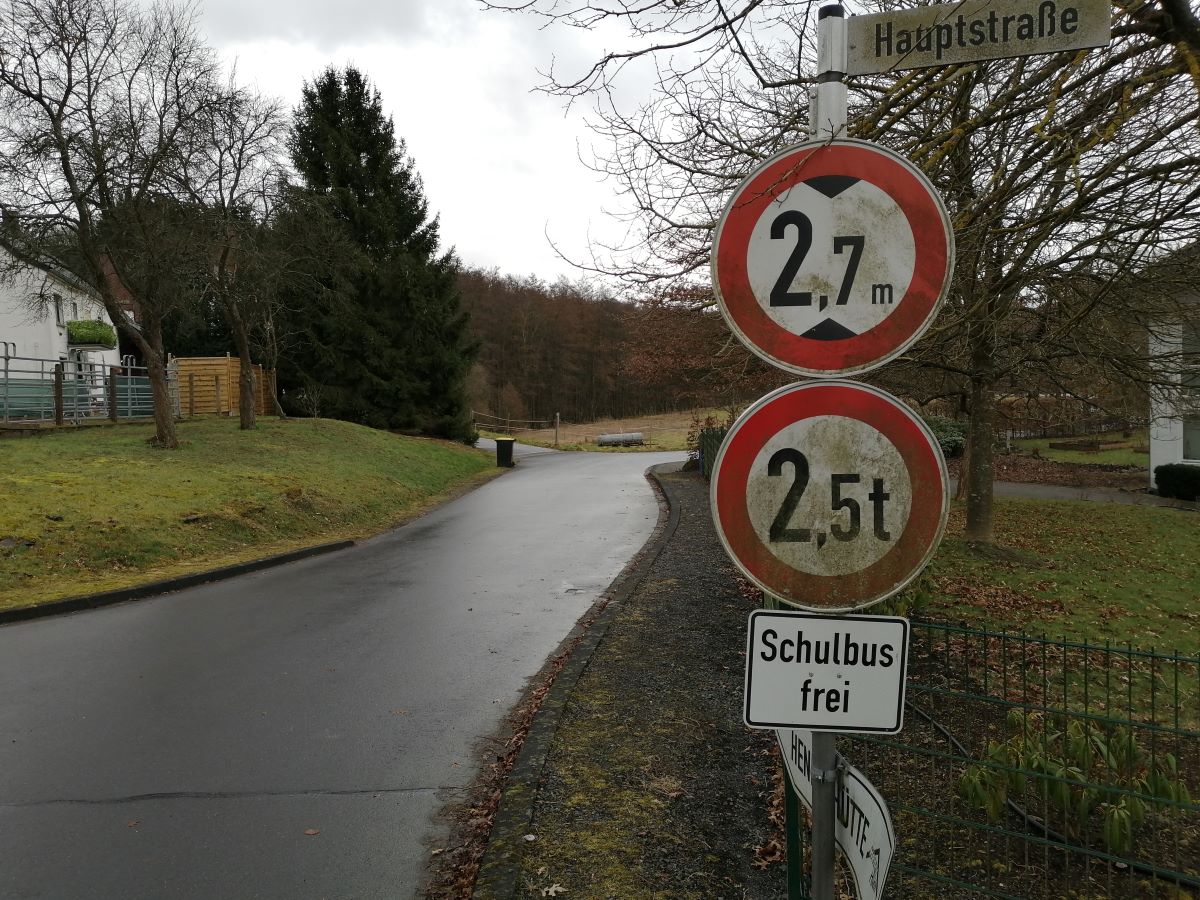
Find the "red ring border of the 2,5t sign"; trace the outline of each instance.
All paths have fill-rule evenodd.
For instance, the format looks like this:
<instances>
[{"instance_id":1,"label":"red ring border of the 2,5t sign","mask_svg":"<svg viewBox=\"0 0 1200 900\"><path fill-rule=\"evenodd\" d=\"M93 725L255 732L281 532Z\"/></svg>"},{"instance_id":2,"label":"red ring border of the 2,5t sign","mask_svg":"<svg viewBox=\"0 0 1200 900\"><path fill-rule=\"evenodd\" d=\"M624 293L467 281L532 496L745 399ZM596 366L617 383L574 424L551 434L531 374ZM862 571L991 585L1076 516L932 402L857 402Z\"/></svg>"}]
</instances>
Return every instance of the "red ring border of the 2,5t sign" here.
<instances>
[{"instance_id":1,"label":"red ring border of the 2,5t sign","mask_svg":"<svg viewBox=\"0 0 1200 900\"><path fill-rule=\"evenodd\" d=\"M850 575L812 575L787 565L760 539L746 508L758 451L782 428L817 415L841 415L877 428L908 469L912 506L904 534L882 558ZM800 610L851 612L902 590L932 559L949 514L948 484L937 439L899 400L857 382L808 382L772 391L734 422L716 455L709 504L726 553L750 581ZM923 506L935 499L941 500L936 517ZM905 572L899 578L893 574L898 566Z\"/></svg>"}]
</instances>

